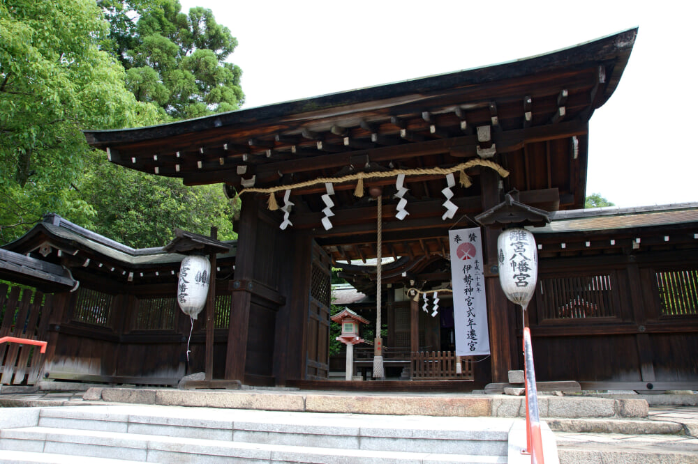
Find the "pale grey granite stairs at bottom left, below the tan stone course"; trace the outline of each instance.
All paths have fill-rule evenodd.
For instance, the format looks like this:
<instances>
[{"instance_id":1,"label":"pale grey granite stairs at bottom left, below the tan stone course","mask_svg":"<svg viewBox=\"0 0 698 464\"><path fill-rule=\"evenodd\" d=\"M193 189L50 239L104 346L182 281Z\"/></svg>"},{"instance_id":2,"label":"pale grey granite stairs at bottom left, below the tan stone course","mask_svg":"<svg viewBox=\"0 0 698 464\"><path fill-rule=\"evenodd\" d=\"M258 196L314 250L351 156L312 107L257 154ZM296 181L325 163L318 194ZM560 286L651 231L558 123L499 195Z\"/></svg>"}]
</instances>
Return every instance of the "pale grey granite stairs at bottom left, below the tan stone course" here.
<instances>
[{"instance_id":1,"label":"pale grey granite stairs at bottom left, below the tan stone course","mask_svg":"<svg viewBox=\"0 0 698 464\"><path fill-rule=\"evenodd\" d=\"M0 462L507 463L516 423L161 405L4 408Z\"/></svg>"}]
</instances>

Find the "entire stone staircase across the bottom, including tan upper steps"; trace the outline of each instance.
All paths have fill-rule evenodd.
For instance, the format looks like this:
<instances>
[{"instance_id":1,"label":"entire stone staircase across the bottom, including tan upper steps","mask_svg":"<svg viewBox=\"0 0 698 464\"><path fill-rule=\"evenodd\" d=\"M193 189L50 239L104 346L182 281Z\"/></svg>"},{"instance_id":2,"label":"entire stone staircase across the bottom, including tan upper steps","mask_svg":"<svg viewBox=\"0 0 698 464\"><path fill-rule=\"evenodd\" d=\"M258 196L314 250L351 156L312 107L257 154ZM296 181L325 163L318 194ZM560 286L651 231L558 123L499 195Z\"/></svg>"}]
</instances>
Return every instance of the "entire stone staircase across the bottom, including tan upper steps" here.
<instances>
[{"instance_id":1,"label":"entire stone staircase across the bottom, including tan upper steps","mask_svg":"<svg viewBox=\"0 0 698 464\"><path fill-rule=\"evenodd\" d=\"M547 464L698 463L698 395L542 395L539 404ZM530 463L524 410L507 395L2 394L0 462Z\"/></svg>"}]
</instances>

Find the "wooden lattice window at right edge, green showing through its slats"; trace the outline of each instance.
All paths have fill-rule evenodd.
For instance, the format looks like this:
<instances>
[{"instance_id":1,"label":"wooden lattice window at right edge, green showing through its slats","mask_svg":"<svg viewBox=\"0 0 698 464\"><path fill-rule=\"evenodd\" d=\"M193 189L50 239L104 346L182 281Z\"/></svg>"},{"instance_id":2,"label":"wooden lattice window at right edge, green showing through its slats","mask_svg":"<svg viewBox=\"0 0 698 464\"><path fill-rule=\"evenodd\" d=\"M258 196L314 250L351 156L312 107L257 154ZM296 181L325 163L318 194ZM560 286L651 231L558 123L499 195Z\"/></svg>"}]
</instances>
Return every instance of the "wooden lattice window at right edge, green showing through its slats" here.
<instances>
[{"instance_id":1,"label":"wooden lattice window at right edge, green showing through its slats","mask_svg":"<svg viewBox=\"0 0 698 464\"><path fill-rule=\"evenodd\" d=\"M698 270L657 272L657 288L664 316L698 314Z\"/></svg>"}]
</instances>

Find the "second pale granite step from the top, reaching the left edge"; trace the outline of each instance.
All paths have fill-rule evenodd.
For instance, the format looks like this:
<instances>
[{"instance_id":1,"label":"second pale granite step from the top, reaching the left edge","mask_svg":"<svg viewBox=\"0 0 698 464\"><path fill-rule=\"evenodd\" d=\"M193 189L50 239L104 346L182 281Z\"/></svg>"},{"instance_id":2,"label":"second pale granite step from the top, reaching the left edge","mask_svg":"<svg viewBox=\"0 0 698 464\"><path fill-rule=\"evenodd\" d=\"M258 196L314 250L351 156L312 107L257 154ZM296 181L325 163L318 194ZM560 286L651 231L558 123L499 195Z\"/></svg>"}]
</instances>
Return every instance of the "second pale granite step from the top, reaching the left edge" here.
<instances>
[{"instance_id":1,"label":"second pale granite step from the top, reaching the left edge","mask_svg":"<svg viewBox=\"0 0 698 464\"><path fill-rule=\"evenodd\" d=\"M299 443L304 443L300 441ZM429 451L338 449L290 444L268 444L168 437L140 433L70 430L50 427L10 428L0 431L0 449L45 452L94 458L160 463L506 463L500 456L440 454ZM506 448L506 445L505 445ZM4 459L4 457L2 458ZM31 462L31 461L30 461Z\"/></svg>"}]
</instances>

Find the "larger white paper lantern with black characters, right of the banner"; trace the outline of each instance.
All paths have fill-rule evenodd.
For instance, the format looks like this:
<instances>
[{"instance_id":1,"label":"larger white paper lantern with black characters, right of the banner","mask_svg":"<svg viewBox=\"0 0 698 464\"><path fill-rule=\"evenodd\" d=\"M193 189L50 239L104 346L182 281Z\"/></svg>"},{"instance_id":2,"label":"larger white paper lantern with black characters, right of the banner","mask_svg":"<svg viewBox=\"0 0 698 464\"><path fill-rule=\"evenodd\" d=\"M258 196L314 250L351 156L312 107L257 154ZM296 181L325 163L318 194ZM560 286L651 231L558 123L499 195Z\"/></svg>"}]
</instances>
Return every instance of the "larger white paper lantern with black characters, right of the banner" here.
<instances>
[{"instance_id":1,"label":"larger white paper lantern with black characters, right of the banner","mask_svg":"<svg viewBox=\"0 0 698 464\"><path fill-rule=\"evenodd\" d=\"M535 292L538 254L533 233L526 229L506 229L497 239L499 282L510 301L528 306Z\"/></svg>"}]
</instances>

